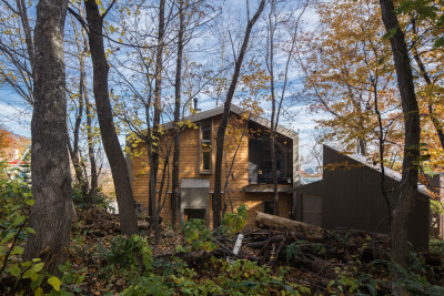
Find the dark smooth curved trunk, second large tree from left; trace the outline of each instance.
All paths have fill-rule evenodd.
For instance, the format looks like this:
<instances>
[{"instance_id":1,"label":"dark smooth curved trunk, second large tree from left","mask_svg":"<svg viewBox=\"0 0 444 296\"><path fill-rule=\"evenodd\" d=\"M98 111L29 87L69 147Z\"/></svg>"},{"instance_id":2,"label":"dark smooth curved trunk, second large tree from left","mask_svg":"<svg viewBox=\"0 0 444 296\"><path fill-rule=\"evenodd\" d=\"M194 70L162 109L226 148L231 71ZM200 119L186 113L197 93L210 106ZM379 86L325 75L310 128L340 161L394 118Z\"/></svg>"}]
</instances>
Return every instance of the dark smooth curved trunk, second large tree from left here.
<instances>
[{"instance_id":1,"label":"dark smooth curved trunk, second large tree from left","mask_svg":"<svg viewBox=\"0 0 444 296\"><path fill-rule=\"evenodd\" d=\"M108 92L109 65L103 47L103 18L100 16L95 1L84 1L84 7L88 25L90 27L88 38L93 67L93 92L100 133L114 181L121 232L122 234L131 235L138 232L138 222L130 175L115 132L110 95Z\"/></svg>"}]
</instances>

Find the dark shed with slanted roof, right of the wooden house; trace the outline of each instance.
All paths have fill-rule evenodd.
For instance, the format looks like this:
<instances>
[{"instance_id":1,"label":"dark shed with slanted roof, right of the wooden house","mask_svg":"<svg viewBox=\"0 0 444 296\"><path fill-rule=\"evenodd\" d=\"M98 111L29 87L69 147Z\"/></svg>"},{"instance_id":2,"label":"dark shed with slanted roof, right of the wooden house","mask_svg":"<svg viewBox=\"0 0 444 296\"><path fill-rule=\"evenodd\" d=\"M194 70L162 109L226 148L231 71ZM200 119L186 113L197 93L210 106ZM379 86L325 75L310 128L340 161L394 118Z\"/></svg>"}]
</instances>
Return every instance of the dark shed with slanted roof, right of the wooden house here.
<instances>
[{"instance_id":1,"label":"dark shed with slanted roof, right of the wooden house","mask_svg":"<svg viewBox=\"0 0 444 296\"><path fill-rule=\"evenodd\" d=\"M346 155L324 145L323 180L295 188L296 220L327 229L356 228L389 232L387 206L381 191L381 171L361 155ZM385 188L395 205L401 175L385 170ZM407 225L408 241L416 249L428 248L430 196L418 186L414 212Z\"/></svg>"}]
</instances>

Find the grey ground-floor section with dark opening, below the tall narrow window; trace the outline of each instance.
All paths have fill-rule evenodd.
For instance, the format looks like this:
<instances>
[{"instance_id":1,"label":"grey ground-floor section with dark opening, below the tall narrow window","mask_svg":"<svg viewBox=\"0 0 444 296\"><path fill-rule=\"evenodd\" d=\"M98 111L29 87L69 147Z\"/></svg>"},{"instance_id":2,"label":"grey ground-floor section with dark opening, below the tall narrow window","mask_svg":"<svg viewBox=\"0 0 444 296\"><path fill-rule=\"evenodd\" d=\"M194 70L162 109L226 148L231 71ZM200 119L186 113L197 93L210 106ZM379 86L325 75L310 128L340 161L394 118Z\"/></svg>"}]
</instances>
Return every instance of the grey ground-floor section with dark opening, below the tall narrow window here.
<instances>
[{"instance_id":1,"label":"grey ground-floor section with dark opening, below the tall narrow window","mask_svg":"<svg viewBox=\"0 0 444 296\"><path fill-rule=\"evenodd\" d=\"M210 226L210 178L182 178L180 211L182 223L203 218Z\"/></svg>"}]
</instances>

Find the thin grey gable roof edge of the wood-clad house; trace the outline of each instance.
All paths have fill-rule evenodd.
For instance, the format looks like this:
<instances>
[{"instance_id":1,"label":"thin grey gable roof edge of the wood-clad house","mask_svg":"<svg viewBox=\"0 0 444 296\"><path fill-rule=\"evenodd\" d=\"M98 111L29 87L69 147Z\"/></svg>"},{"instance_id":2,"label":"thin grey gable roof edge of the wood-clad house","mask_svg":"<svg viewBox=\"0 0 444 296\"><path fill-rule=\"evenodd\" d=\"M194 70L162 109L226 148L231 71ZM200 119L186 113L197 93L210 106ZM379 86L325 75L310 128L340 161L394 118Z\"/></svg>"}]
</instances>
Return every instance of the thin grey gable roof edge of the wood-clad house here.
<instances>
[{"instance_id":1,"label":"thin grey gable roof edge of the wood-clad house","mask_svg":"<svg viewBox=\"0 0 444 296\"><path fill-rule=\"evenodd\" d=\"M216 106L214 109L210 109L210 110L206 110L206 111L202 111L202 112L195 113L193 115L184 118L184 121L189 121L190 120L191 122L199 122L199 121L202 121L202 120L205 120L205 119L210 119L210 118L214 118L216 115L221 115L221 114L223 114L223 108L224 106L222 105L222 106ZM231 104L230 105L230 112L233 112L234 114L240 115L243 112L245 112L245 110L243 110L242 108L240 108L238 105ZM251 116L250 121L255 122L255 123L258 123L258 124L260 124L262 126L265 126L268 129L271 129L271 122L269 120L262 118L262 116ZM173 127L173 122L164 123L163 127L167 129L167 130L172 129ZM291 137L291 139L297 137L297 133L296 132L294 132L292 130L289 130L289 129L285 129L285 127L283 127L281 125L278 125L276 132L282 134L282 135L284 135L284 136Z\"/></svg>"}]
</instances>

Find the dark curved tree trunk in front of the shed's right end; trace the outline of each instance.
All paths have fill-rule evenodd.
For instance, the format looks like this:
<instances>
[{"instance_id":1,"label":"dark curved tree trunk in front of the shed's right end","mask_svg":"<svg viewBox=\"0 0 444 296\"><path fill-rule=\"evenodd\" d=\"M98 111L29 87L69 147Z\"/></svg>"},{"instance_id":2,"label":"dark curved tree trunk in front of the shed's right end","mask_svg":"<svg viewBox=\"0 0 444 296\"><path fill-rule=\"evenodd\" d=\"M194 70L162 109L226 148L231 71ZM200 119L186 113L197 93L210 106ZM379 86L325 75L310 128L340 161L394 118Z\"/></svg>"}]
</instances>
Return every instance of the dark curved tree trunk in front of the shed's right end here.
<instances>
[{"instance_id":1,"label":"dark curved tree trunk in front of the shed's right end","mask_svg":"<svg viewBox=\"0 0 444 296\"><path fill-rule=\"evenodd\" d=\"M401 94L401 103L404 113L405 145L402 169L402 187L400 198L393 212L391 226L392 259L401 266L407 265L407 218L413 211L417 192L418 167L415 162L420 160L420 112L413 84L412 68L408 51L405 44L404 33L394 13L391 0L380 0L382 20L390 32L390 42L396 67L397 84ZM396 268L393 271L393 283L398 278ZM392 284L394 295L403 295L402 287Z\"/></svg>"}]
</instances>

